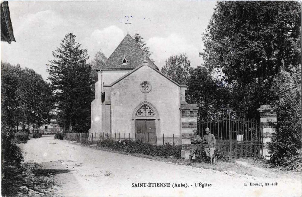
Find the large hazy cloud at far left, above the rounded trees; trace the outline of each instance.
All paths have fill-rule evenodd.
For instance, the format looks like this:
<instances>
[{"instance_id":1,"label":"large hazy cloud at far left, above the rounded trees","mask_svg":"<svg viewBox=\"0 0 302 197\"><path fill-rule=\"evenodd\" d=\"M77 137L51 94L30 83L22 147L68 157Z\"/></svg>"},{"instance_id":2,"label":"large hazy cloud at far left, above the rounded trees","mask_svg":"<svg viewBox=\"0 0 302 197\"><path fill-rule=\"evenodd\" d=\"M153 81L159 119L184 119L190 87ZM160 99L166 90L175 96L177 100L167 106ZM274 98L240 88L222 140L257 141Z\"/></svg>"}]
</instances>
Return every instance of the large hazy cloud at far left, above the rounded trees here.
<instances>
[{"instance_id":1,"label":"large hazy cloud at far left, above the rounded trees","mask_svg":"<svg viewBox=\"0 0 302 197\"><path fill-rule=\"evenodd\" d=\"M59 14L50 10L18 18L18 23L13 23L16 42L1 43L1 57L11 64L32 68L46 79L45 64L53 58L51 51L57 44L53 35L62 31L64 23Z\"/></svg>"}]
</instances>

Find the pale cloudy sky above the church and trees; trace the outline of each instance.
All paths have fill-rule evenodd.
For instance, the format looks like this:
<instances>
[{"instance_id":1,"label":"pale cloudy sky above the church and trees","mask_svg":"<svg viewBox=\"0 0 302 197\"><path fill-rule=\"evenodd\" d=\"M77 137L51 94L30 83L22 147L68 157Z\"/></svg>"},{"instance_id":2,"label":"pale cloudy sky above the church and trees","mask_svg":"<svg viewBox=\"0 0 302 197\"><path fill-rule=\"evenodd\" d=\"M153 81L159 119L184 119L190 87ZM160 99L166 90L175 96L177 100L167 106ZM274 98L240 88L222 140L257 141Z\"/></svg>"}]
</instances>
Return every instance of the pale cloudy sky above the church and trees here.
<instances>
[{"instance_id":1,"label":"pale cloudy sky above the church and trees","mask_svg":"<svg viewBox=\"0 0 302 197\"><path fill-rule=\"evenodd\" d=\"M9 1L16 42L1 42L1 59L32 68L47 80L52 51L67 33L88 50L111 55L127 34L139 33L161 69L172 55L186 53L193 67L202 63L202 33L216 1Z\"/></svg>"}]
</instances>

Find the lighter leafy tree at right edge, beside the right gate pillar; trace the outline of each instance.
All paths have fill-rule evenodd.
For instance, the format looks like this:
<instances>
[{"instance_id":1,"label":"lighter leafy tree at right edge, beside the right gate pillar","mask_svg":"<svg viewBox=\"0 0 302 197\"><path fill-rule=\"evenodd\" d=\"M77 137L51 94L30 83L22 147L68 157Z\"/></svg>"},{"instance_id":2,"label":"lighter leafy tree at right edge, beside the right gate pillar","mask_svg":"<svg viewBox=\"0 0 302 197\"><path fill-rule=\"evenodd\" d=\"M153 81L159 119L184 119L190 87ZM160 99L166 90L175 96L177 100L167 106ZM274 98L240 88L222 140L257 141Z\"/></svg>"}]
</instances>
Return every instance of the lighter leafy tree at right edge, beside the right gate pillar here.
<instances>
[{"instance_id":1,"label":"lighter leafy tree at right edge, beside the right gate pillar","mask_svg":"<svg viewBox=\"0 0 302 197\"><path fill-rule=\"evenodd\" d=\"M269 143L270 163L301 171L301 68L282 70L273 81L272 91L279 98L272 103L278 128Z\"/></svg>"}]
</instances>

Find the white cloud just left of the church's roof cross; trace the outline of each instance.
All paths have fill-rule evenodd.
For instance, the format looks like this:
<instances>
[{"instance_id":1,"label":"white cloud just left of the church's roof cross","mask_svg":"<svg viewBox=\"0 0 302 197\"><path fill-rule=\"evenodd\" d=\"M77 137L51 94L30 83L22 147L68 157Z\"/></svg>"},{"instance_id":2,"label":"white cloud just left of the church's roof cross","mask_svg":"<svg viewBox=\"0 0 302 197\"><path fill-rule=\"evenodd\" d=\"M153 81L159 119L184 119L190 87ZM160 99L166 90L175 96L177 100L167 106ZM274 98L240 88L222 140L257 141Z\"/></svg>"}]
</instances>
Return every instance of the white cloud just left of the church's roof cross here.
<instances>
[{"instance_id":1,"label":"white cloud just left of the church's roof cross","mask_svg":"<svg viewBox=\"0 0 302 197\"><path fill-rule=\"evenodd\" d=\"M82 45L88 50L91 60L100 49L105 56L109 57L124 36L124 32L120 28L112 25L102 30L94 30L89 37L84 39Z\"/></svg>"}]
</instances>

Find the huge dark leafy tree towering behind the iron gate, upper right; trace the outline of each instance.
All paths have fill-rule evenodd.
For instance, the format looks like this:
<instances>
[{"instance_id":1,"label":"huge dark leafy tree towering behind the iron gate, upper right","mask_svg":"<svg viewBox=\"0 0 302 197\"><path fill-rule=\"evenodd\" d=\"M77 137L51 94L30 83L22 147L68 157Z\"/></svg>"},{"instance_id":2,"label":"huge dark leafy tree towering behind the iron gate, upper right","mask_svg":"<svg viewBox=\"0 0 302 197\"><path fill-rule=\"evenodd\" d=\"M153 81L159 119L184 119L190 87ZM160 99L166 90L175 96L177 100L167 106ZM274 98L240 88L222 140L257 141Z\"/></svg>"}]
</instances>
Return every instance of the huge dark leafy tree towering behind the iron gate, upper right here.
<instances>
[{"instance_id":1,"label":"huge dark leafy tree towering behind the iron gate, upper right","mask_svg":"<svg viewBox=\"0 0 302 197\"><path fill-rule=\"evenodd\" d=\"M281 67L301 64L301 8L293 1L218 2L203 35L201 56L210 70L221 68L234 84L238 113L255 116L275 99L271 84Z\"/></svg>"}]
</instances>

